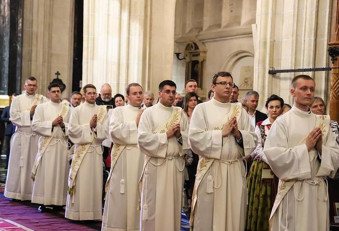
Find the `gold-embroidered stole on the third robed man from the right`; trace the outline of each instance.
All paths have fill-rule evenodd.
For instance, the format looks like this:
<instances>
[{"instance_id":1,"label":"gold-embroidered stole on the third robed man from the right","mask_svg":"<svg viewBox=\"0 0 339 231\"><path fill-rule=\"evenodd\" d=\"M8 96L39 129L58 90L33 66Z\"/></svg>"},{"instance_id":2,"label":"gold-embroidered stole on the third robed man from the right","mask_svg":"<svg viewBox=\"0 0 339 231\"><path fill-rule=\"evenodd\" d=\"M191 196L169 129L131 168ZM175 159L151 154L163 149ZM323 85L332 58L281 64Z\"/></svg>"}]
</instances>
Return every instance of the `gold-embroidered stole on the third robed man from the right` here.
<instances>
[{"instance_id":1,"label":"gold-embroidered stole on the third robed man from the right","mask_svg":"<svg viewBox=\"0 0 339 231\"><path fill-rule=\"evenodd\" d=\"M167 123L159 124L158 127L153 131L153 134L166 133L169 129L171 129L173 127L173 125L180 123L181 110L182 110L181 107L172 106L172 113L171 113L171 116L167 119ZM141 202L140 199L141 199L143 172L144 172L144 170L145 170L145 168L146 168L146 166L149 163L151 158L152 157L148 156L148 155L145 155L145 157L144 157L143 168L142 168L140 179L139 179L139 206L138 206L138 209L140 209L140 202Z\"/></svg>"}]
</instances>

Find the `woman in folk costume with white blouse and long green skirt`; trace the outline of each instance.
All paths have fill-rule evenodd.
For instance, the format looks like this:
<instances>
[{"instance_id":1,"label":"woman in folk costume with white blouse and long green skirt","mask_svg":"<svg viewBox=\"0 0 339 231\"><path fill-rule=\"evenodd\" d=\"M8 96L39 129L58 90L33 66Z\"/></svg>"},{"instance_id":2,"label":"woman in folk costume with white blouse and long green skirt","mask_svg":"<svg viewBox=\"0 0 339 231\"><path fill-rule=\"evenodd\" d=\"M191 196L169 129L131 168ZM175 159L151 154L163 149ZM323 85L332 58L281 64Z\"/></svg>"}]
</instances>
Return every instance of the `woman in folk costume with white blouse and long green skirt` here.
<instances>
[{"instance_id":1,"label":"woman in folk costume with white blouse and long green skirt","mask_svg":"<svg viewBox=\"0 0 339 231\"><path fill-rule=\"evenodd\" d=\"M284 100L279 96L270 96L265 103L269 118L258 122L255 127L258 145L251 154L254 161L247 178L249 201L247 230L269 230L270 213L277 194L278 178L270 169L263 146L271 125L282 112L283 105Z\"/></svg>"}]
</instances>

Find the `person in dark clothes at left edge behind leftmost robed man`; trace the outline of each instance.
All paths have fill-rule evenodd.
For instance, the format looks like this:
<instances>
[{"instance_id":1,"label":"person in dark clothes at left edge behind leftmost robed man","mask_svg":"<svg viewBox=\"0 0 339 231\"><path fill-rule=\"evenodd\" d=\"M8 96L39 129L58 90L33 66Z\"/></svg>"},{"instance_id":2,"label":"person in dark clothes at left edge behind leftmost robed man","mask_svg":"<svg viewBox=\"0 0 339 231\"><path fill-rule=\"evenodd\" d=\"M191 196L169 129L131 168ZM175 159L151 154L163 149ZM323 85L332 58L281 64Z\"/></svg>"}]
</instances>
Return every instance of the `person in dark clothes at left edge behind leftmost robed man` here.
<instances>
[{"instance_id":1,"label":"person in dark clothes at left edge behind leftmost robed man","mask_svg":"<svg viewBox=\"0 0 339 231\"><path fill-rule=\"evenodd\" d=\"M13 101L16 96L17 96L17 94L14 93L11 96L11 100ZM3 147L2 147L2 153L6 153L7 167L8 167L9 153L10 153L10 149L11 149L10 141L11 141L11 137L12 137L14 131L15 131L15 126L12 124L12 122L9 119L10 118L10 116L9 116L10 108L11 108L11 105L5 107L3 113L1 114L1 121L3 121L4 123L7 123L6 129L5 129L4 144L3 144Z\"/></svg>"}]
</instances>

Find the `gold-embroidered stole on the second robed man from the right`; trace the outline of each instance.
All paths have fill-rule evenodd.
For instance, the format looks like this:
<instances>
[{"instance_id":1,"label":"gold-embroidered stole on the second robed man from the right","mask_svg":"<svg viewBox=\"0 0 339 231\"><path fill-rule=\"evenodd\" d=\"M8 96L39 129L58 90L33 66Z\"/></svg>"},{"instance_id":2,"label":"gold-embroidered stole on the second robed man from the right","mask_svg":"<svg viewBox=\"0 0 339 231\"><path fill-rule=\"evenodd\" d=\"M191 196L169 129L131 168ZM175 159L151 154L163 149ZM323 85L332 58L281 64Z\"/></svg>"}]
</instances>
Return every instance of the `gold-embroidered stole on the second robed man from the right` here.
<instances>
[{"instance_id":1,"label":"gold-embroidered stole on the second robed man from the right","mask_svg":"<svg viewBox=\"0 0 339 231\"><path fill-rule=\"evenodd\" d=\"M221 121L219 123L219 125L215 126L213 130L222 130L223 126L225 123L227 123L227 121L229 121L232 117L236 117L237 122L240 121L241 118L241 103L231 103L230 104L230 110L229 112L226 114L226 117L223 121ZM228 139L229 139L230 135L226 136L225 139L223 139L223 144L225 144ZM207 158L207 157L200 157L199 158L199 162L198 162L198 169L197 169L197 175L196 175L196 182L194 184L194 188L193 188L193 193L192 193L192 209L191 209L191 216L189 219L189 224L190 224L190 230L192 230L193 228L193 221L194 221L194 209L195 206L197 204L197 191L198 188L200 186L201 181L203 180L207 170L211 167L211 165L213 164L214 159L212 158Z\"/></svg>"}]
</instances>

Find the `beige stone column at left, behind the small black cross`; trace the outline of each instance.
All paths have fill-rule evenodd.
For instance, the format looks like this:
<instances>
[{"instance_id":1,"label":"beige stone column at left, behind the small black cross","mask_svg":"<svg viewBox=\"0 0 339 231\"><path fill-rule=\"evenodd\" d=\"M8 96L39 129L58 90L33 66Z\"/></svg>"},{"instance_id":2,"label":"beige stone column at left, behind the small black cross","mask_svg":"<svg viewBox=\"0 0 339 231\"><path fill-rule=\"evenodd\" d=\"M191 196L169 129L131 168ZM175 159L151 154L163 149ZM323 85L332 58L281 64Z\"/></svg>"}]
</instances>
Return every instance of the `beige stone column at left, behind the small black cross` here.
<instances>
[{"instance_id":1,"label":"beige stone column at left, behind the small black cross","mask_svg":"<svg viewBox=\"0 0 339 231\"><path fill-rule=\"evenodd\" d=\"M38 93L46 96L56 78L71 91L74 39L74 0L25 0L23 12L22 84L29 76L38 80Z\"/></svg>"}]
</instances>

